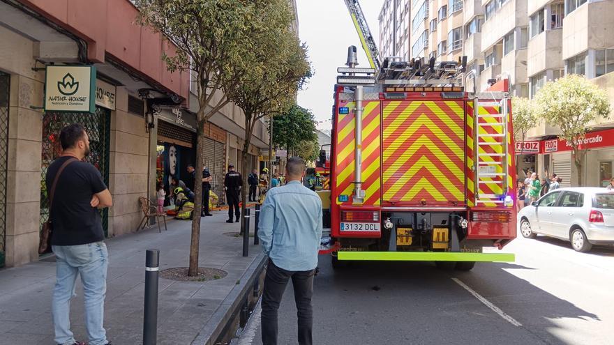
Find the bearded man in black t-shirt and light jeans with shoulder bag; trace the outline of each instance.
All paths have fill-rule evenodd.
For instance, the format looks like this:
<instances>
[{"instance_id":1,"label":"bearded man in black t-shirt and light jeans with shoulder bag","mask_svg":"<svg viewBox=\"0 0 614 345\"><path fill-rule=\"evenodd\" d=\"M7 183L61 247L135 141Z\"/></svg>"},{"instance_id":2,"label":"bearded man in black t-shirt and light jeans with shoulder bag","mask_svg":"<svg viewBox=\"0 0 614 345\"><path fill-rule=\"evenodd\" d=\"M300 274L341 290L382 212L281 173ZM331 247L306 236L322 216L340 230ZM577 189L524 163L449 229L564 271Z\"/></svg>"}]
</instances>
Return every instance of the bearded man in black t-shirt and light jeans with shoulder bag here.
<instances>
[{"instance_id":1,"label":"bearded man in black t-shirt and light jeans with shoulder bag","mask_svg":"<svg viewBox=\"0 0 614 345\"><path fill-rule=\"evenodd\" d=\"M56 283L52 298L55 342L80 345L70 331L70 300L80 275L85 300L85 327L90 345L110 344L103 327L107 290L107 246L98 209L112 206L112 198L92 164L82 162L90 153L89 137L79 124L60 132L63 153L47 169L45 183L52 191L51 244L56 255ZM56 186L53 188L54 181Z\"/></svg>"}]
</instances>

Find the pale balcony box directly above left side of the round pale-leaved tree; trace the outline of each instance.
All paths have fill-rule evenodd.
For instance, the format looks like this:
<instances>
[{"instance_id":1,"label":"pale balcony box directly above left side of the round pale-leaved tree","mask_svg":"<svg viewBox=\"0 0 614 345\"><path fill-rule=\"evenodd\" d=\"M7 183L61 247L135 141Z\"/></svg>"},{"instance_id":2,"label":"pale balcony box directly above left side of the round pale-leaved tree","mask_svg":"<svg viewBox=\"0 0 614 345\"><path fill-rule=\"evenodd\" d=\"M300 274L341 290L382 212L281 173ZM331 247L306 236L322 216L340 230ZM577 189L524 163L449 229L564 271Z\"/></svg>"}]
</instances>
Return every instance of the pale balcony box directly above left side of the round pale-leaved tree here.
<instances>
[{"instance_id":1,"label":"pale balcony box directly above left side of the round pale-leaved tree","mask_svg":"<svg viewBox=\"0 0 614 345\"><path fill-rule=\"evenodd\" d=\"M529 40L527 75L536 75L546 68L564 68L562 29L546 30Z\"/></svg>"}]
</instances>

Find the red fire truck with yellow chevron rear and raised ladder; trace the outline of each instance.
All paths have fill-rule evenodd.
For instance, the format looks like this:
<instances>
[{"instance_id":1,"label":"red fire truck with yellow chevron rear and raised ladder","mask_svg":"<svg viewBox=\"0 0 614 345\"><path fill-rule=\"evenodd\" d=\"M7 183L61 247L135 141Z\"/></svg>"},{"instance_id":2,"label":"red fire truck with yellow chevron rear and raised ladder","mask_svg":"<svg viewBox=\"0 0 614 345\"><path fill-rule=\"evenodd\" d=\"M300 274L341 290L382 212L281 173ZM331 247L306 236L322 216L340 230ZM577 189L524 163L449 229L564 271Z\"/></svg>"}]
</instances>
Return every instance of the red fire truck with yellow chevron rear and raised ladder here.
<instances>
[{"instance_id":1,"label":"red fire truck with yellow chevron rear and raised ladder","mask_svg":"<svg viewBox=\"0 0 614 345\"><path fill-rule=\"evenodd\" d=\"M507 90L477 92L464 57L380 64L368 29L359 28L360 11L350 13L371 67L357 67L350 47L347 66L338 68L331 157L320 162L330 169L330 190L320 192L330 217L321 253L334 267L435 261L471 270L477 261L514 261L484 249L516 238Z\"/></svg>"}]
</instances>

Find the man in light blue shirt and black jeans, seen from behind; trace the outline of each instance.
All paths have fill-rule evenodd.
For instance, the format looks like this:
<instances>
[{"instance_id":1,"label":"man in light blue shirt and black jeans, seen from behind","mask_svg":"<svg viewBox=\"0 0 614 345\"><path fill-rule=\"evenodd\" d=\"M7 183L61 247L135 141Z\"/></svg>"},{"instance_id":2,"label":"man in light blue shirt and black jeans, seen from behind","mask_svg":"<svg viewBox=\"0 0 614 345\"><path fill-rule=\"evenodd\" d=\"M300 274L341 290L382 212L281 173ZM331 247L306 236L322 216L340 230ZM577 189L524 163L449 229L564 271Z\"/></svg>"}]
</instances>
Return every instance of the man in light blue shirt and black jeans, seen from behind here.
<instances>
[{"instance_id":1,"label":"man in light blue shirt and black jeans, seen from behind","mask_svg":"<svg viewBox=\"0 0 614 345\"><path fill-rule=\"evenodd\" d=\"M277 312L288 280L297 303L299 344L312 341L313 276L322 238L322 201L301 183L305 161L287 161L287 184L271 188L260 210L258 238L269 256L262 292L262 343L276 345Z\"/></svg>"}]
</instances>

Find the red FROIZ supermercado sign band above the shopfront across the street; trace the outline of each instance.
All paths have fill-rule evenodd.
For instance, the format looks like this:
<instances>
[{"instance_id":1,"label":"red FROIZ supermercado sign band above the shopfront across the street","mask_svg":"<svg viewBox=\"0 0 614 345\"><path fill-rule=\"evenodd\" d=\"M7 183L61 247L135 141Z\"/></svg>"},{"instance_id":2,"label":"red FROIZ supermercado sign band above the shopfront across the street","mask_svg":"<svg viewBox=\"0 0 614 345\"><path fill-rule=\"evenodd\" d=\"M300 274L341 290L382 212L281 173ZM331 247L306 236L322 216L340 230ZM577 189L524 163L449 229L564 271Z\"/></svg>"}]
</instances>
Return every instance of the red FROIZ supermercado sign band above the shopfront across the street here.
<instances>
[{"instance_id":1,"label":"red FROIZ supermercado sign band above the shopfront across the street","mask_svg":"<svg viewBox=\"0 0 614 345\"><path fill-rule=\"evenodd\" d=\"M532 144L534 142L539 142L538 152L534 151L534 144ZM614 146L614 129L586 133L584 139L578 139L577 142L579 145L578 147L581 149ZM522 148L523 146L525 147L523 154L571 151L571 143L567 140L562 139L550 139L543 141L516 141L516 154L521 153L520 148Z\"/></svg>"}]
</instances>

